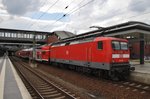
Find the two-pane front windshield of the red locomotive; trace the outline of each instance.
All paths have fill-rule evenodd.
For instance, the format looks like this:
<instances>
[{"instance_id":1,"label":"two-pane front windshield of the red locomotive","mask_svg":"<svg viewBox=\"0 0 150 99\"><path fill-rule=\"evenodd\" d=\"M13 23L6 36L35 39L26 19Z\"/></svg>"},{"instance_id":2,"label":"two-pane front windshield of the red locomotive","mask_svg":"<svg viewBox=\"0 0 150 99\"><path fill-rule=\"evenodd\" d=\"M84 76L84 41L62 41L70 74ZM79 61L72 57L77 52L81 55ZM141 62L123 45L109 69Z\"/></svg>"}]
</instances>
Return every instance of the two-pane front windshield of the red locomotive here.
<instances>
[{"instance_id":1,"label":"two-pane front windshield of the red locomotive","mask_svg":"<svg viewBox=\"0 0 150 99\"><path fill-rule=\"evenodd\" d=\"M128 44L127 42L112 41L112 48L114 50L128 50Z\"/></svg>"}]
</instances>

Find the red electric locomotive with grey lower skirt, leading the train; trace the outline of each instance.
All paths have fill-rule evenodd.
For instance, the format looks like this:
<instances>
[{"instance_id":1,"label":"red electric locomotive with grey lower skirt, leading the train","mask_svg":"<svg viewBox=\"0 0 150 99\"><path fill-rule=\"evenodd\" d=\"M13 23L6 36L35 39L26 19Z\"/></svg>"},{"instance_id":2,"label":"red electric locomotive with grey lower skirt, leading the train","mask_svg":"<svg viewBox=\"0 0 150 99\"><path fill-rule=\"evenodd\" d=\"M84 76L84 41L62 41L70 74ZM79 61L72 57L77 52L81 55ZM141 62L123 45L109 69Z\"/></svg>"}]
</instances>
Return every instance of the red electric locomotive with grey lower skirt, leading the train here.
<instances>
[{"instance_id":1,"label":"red electric locomotive with grey lower skirt, leading the train","mask_svg":"<svg viewBox=\"0 0 150 99\"><path fill-rule=\"evenodd\" d=\"M52 44L50 53L51 62L88 68L111 78L128 75L130 70L125 39L95 37L59 42Z\"/></svg>"}]
</instances>

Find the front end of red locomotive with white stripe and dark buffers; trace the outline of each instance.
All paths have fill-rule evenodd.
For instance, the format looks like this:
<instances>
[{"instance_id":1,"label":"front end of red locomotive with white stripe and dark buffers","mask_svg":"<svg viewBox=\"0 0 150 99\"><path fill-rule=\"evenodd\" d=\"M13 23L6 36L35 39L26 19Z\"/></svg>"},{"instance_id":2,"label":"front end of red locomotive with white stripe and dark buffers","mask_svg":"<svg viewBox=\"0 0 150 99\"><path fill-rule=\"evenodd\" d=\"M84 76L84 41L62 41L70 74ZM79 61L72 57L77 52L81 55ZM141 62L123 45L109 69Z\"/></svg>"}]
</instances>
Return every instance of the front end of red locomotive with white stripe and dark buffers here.
<instances>
[{"instance_id":1,"label":"front end of red locomotive with white stripe and dark buffers","mask_svg":"<svg viewBox=\"0 0 150 99\"><path fill-rule=\"evenodd\" d=\"M112 59L111 59L111 76L118 79L127 79L130 70L130 51L127 40L112 40Z\"/></svg>"}]
</instances>

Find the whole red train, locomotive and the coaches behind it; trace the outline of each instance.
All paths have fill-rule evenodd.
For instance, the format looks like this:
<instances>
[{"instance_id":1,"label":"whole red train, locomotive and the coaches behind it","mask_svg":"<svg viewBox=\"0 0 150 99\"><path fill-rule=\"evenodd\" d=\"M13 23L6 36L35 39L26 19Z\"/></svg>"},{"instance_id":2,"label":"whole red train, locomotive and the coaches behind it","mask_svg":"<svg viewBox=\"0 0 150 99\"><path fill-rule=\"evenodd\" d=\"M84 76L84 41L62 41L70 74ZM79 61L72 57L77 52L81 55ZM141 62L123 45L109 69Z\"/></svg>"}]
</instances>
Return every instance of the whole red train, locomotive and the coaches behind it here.
<instances>
[{"instance_id":1,"label":"whole red train, locomotive and the coaches behind it","mask_svg":"<svg viewBox=\"0 0 150 99\"><path fill-rule=\"evenodd\" d=\"M16 56L31 58L33 49L22 49ZM130 51L126 39L92 37L58 41L36 49L36 60L97 74L112 80L128 79Z\"/></svg>"}]
</instances>

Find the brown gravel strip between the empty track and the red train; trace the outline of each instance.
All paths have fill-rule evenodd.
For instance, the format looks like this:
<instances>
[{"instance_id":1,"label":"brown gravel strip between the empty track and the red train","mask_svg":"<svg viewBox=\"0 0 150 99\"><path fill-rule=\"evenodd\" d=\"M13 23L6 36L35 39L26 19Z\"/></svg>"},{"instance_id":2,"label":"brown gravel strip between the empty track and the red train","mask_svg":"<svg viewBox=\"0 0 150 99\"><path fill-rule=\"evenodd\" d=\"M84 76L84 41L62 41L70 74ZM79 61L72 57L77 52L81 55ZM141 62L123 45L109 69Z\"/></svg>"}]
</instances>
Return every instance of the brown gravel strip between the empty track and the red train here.
<instances>
[{"instance_id":1,"label":"brown gravel strip between the empty track and the red train","mask_svg":"<svg viewBox=\"0 0 150 99\"><path fill-rule=\"evenodd\" d=\"M141 93L141 91L132 88L114 85L71 70L59 69L44 64L38 64L37 69L47 73L47 75L53 75L55 81L73 89L77 94L84 96L85 99L101 99L102 96L105 97L104 99L149 99L150 97L150 93Z\"/></svg>"}]
</instances>

